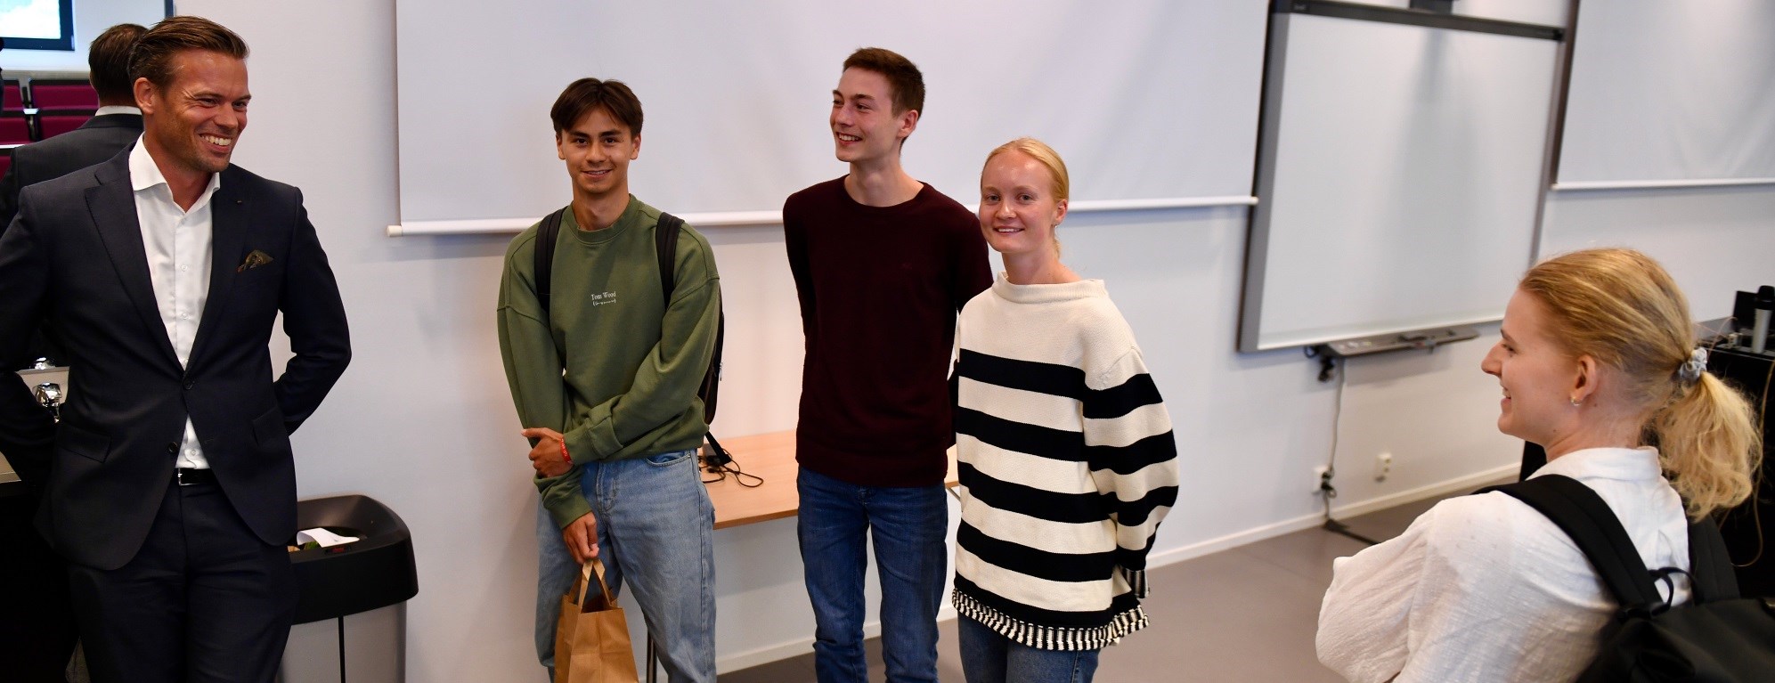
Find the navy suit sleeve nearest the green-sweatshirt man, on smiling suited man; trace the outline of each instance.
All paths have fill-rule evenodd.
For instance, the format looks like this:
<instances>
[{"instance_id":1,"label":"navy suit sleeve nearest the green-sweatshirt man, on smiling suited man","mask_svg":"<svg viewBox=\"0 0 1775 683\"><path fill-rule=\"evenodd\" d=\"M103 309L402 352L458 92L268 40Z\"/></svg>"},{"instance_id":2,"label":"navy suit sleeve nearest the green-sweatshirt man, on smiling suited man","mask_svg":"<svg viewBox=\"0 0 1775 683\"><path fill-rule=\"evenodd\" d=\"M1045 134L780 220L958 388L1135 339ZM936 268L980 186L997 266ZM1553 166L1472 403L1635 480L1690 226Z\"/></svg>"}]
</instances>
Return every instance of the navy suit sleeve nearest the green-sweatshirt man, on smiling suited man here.
<instances>
[{"instance_id":1,"label":"navy suit sleeve nearest the green-sweatshirt man, on smiling suited man","mask_svg":"<svg viewBox=\"0 0 1775 683\"><path fill-rule=\"evenodd\" d=\"M296 192L296 227L289 243L289 266L284 271L284 294L279 310L284 312L284 334L295 358L277 378L277 406L284 412L284 428L291 433L320 408L334 381L351 362L351 335L344 321L344 302L339 300L339 282L327 266L309 211L302 208Z\"/></svg>"}]
</instances>

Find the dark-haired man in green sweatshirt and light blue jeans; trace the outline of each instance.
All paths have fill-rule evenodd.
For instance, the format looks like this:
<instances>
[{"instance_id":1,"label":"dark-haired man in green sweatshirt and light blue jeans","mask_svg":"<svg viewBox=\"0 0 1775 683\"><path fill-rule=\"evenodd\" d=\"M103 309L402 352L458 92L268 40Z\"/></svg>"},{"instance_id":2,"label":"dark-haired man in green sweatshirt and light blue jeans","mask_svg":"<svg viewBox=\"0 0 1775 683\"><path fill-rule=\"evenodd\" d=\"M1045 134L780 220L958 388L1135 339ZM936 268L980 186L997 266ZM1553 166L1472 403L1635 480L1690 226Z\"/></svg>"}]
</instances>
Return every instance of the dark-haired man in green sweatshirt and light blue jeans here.
<instances>
[{"instance_id":1,"label":"dark-haired man in green sweatshirt and light blue jeans","mask_svg":"<svg viewBox=\"0 0 1775 683\"><path fill-rule=\"evenodd\" d=\"M667 678L715 681L714 520L696 451L696 396L715 348L721 280L708 241L678 234L671 300L653 231L660 211L628 193L641 101L580 78L554 108L573 202L561 209L543 303L541 224L511 239L499 286L499 351L541 490L536 655L554 667L561 594L591 557L634 591Z\"/></svg>"}]
</instances>

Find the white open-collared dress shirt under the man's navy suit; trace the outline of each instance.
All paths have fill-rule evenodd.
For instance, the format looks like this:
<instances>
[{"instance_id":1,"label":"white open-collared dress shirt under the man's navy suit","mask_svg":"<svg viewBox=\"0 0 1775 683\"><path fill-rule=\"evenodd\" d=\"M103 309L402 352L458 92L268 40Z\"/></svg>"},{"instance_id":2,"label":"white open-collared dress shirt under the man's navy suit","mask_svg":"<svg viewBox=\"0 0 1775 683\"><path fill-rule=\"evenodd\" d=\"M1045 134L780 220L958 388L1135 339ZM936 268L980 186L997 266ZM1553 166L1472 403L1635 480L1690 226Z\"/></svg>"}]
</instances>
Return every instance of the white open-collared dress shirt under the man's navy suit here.
<instances>
[{"instance_id":1,"label":"white open-collared dress shirt under the man's navy suit","mask_svg":"<svg viewBox=\"0 0 1775 683\"><path fill-rule=\"evenodd\" d=\"M209 197L222 186L222 174L209 174L192 209L181 209L172 200L172 188L160 174L154 158L147 154L142 138L130 151L130 186L135 190L135 216L142 225L142 248L147 252L147 275L154 280L154 305L167 326L179 365L192 358L192 341L197 323L204 318L204 300L209 298L209 238L215 225L209 218ZM178 467L208 468L197 428L185 419L185 438L179 444Z\"/></svg>"}]
</instances>

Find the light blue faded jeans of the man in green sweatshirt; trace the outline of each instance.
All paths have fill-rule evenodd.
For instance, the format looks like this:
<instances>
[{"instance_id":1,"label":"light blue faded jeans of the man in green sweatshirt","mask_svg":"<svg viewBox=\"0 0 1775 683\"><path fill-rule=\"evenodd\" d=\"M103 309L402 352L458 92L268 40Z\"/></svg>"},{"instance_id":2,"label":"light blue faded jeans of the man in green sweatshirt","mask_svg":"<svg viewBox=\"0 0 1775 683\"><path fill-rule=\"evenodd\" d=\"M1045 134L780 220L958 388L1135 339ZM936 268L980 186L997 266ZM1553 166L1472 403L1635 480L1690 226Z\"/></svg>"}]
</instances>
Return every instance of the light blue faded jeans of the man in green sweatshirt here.
<instances>
[{"instance_id":1,"label":"light blue faded jeans of the man in green sweatshirt","mask_svg":"<svg viewBox=\"0 0 1775 683\"><path fill-rule=\"evenodd\" d=\"M605 580L612 593L634 591L671 683L715 683L715 506L696 465L696 451L676 451L580 470ZM580 566L536 507L536 656L552 669L561 596Z\"/></svg>"}]
</instances>

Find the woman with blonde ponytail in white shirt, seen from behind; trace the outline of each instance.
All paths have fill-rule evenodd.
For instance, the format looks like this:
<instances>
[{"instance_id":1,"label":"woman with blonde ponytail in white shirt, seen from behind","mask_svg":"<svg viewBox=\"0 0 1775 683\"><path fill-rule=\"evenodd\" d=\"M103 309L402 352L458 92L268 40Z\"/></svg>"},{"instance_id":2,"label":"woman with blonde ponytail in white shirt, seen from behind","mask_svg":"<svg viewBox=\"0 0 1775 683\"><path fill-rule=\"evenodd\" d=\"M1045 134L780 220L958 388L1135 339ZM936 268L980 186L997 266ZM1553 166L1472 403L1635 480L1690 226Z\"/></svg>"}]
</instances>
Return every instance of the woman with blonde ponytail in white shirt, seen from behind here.
<instances>
[{"instance_id":1,"label":"woman with blonde ponytail in white shirt, seen from behind","mask_svg":"<svg viewBox=\"0 0 1775 683\"><path fill-rule=\"evenodd\" d=\"M1530 268L1480 369L1503 389L1498 429L1546 449L1535 475L1594 490L1649 568L1686 571L1688 522L1752 491L1750 403L1708 373L1688 302L1645 254ZM1683 603L1688 577L1660 591ZM1569 681L1613 610L1546 516L1505 493L1459 497L1333 564L1319 660L1351 681Z\"/></svg>"}]
</instances>

